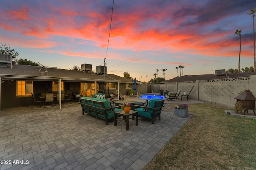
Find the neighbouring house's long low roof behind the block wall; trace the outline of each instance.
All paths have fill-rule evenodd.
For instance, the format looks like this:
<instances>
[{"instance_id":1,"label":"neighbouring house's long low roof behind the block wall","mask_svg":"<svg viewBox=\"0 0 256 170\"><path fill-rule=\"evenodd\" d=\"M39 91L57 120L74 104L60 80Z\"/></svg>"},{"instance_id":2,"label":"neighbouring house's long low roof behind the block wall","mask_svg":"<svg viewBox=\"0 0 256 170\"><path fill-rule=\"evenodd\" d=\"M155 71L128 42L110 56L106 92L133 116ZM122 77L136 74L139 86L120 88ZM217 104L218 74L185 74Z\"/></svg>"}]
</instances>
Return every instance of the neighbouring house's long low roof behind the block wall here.
<instances>
[{"instance_id":1,"label":"neighbouring house's long low roof behind the block wall","mask_svg":"<svg viewBox=\"0 0 256 170\"><path fill-rule=\"evenodd\" d=\"M226 74L226 76L214 76L214 74L185 75L181 77L175 77L170 80L162 81L161 83L187 82L187 81L196 81L196 80L214 80L214 79L222 79L222 78L237 78L237 77L248 77L251 75L256 75L256 72L229 73L229 74Z\"/></svg>"}]
</instances>

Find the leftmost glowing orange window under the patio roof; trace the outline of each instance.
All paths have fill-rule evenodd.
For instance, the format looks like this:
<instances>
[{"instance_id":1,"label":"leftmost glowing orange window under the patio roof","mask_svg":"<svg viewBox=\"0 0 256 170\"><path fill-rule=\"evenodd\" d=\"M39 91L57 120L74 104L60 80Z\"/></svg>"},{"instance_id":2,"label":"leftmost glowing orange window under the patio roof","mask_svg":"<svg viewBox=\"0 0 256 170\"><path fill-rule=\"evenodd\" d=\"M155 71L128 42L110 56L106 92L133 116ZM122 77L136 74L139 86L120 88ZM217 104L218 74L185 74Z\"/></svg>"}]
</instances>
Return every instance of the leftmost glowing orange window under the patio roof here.
<instances>
[{"instance_id":1,"label":"leftmost glowing orange window under the patio roof","mask_svg":"<svg viewBox=\"0 0 256 170\"><path fill-rule=\"evenodd\" d=\"M17 96L31 96L33 81L17 81Z\"/></svg>"}]
</instances>

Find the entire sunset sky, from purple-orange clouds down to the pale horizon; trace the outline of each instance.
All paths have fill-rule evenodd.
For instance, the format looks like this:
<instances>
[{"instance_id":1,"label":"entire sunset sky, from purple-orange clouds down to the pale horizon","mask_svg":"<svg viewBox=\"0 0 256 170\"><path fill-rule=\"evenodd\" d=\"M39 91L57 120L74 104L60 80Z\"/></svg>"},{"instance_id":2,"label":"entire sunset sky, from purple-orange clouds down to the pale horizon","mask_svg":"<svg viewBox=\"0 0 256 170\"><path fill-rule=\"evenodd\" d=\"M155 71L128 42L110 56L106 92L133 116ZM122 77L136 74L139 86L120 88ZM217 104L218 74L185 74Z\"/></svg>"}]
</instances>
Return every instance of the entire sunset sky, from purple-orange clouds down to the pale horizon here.
<instances>
[{"instance_id":1,"label":"entire sunset sky, from purple-orange clouds down to the pale horizon","mask_svg":"<svg viewBox=\"0 0 256 170\"><path fill-rule=\"evenodd\" d=\"M140 81L253 66L255 0L2 0L0 43L22 59L69 69L106 66ZM142 78L141 78L142 77Z\"/></svg>"}]
</instances>

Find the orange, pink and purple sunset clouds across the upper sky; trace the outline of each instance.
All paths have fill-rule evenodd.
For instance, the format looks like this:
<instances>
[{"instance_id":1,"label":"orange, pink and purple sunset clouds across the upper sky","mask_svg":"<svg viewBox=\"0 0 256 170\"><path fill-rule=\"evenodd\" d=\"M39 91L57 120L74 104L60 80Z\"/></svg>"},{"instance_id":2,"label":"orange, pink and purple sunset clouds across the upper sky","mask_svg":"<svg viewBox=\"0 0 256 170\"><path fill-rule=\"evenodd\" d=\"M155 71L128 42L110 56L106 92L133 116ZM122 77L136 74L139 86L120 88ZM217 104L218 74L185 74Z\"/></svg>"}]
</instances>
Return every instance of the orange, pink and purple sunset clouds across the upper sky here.
<instances>
[{"instance_id":1,"label":"orange, pink and purple sunset clouds across the upper sky","mask_svg":"<svg viewBox=\"0 0 256 170\"><path fill-rule=\"evenodd\" d=\"M190 55L230 57L237 53L238 39L234 28L221 25L238 22L233 16L249 11L254 1L115 1L109 48L122 51L166 51ZM33 1L4 4L0 27L16 33L22 47L40 49L66 56L102 57L100 52L84 52L77 46L106 49L110 31L112 3L105 1ZM248 16L249 18L249 16ZM251 20L251 18L249 18ZM231 23L231 22L230 22ZM251 24L250 24L251 25ZM244 31L242 51L251 56L252 33ZM73 39L60 41L60 37ZM76 41L74 40L76 39ZM79 40L79 41L77 41ZM73 50L65 49L72 46ZM59 47L52 51L52 47ZM42 50L44 49L44 50ZM112 53L111 59L123 60L125 55ZM125 57L125 59L127 59ZM137 62L156 61L140 60ZM158 64L182 64L180 62ZM184 65L184 64L182 64Z\"/></svg>"}]
</instances>

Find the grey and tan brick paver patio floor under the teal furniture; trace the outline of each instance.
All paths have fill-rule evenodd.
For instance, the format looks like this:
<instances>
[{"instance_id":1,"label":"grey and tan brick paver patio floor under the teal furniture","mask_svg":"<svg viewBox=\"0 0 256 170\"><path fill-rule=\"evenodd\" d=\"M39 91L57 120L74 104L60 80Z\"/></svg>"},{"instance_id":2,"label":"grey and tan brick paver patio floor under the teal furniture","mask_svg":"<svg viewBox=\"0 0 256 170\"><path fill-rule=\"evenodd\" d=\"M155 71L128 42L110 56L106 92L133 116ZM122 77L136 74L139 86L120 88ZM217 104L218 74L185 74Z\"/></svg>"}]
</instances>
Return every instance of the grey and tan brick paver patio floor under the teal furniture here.
<instances>
[{"instance_id":1,"label":"grey and tan brick paver patio floor under the teal furniture","mask_svg":"<svg viewBox=\"0 0 256 170\"><path fill-rule=\"evenodd\" d=\"M178 117L166 107L160 121L152 125L139 118L135 126L131 120L126 131L124 121L105 125L104 120L82 115L78 103L62 109L2 109L0 169L141 170L190 117Z\"/></svg>"}]
</instances>

